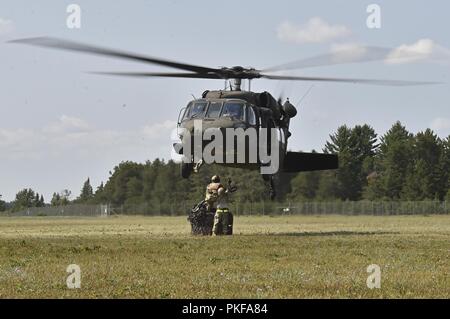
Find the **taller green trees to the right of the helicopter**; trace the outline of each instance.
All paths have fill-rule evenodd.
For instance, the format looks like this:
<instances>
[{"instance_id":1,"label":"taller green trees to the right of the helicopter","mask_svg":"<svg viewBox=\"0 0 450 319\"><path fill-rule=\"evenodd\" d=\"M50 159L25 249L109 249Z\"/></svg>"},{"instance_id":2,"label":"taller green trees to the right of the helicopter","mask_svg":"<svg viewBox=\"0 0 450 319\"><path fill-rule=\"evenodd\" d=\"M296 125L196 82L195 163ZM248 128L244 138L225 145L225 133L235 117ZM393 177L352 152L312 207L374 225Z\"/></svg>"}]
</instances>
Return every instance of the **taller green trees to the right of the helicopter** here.
<instances>
[{"instance_id":1,"label":"taller green trees to the right of the helicopter","mask_svg":"<svg viewBox=\"0 0 450 319\"><path fill-rule=\"evenodd\" d=\"M287 195L295 200L444 200L450 198L450 136L412 134L396 122L379 137L368 125L341 126L325 152L336 171L300 173Z\"/></svg>"}]
</instances>

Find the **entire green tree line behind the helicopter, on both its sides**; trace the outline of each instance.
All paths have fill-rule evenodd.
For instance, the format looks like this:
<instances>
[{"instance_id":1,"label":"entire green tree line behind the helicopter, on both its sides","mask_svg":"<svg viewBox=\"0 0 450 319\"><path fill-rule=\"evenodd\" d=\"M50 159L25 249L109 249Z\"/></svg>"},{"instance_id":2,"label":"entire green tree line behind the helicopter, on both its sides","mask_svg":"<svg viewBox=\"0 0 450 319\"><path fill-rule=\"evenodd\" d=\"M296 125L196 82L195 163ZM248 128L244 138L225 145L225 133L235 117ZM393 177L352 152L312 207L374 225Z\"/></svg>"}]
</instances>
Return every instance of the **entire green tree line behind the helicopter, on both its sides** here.
<instances>
[{"instance_id":1,"label":"entire green tree line behind the helicopter, on both its sides","mask_svg":"<svg viewBox=\"0 0 450 319\"><path fill-rule=\"evenodd\" d=\"M278 201L450 199L450 136L441 139L430 129L413 134L400 122L382 136L369 125L343 125L329 136L322 151L338 154L340 168L280 174ZM203 198L211 176L217 174L222 182L230 178L237 184L233 197L238 202L268 199L267 185L258 170L205 165L199 173L182 179L178 164L156 159L120 163L95 190L87 179L72 202L159 207L196 202ZM50 205L69 204L70 195L68 190L54 193ZM44 199L31 189L20 191L12 203L13 209L38 205L45 205ZM7 207L0 198L0 210Z\"/></svg>"}]
</instances>

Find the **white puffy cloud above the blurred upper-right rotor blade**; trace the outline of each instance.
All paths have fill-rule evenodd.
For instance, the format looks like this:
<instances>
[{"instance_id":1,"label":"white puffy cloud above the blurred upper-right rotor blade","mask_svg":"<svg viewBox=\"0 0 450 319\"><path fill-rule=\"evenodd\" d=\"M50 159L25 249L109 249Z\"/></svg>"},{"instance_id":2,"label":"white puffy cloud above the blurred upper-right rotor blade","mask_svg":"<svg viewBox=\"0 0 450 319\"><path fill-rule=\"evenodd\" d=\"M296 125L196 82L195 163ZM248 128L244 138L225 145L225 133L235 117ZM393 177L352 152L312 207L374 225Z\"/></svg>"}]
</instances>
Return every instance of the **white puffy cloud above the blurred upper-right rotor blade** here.
<instances>
[{"instance_id":1,"label":"white puffy cloud above the blurred upper-right rotor blade","mask_svg":"<svg viewBox=\"0 0 450 319\"><path fill-rule=\"evenodd\" d=\"M278 39L291 43L322 43L345 38L351 34L344 25L330 25L319 17L311 18L306 24L296 25L285 21L278 26Z\"/></svg>"}]
</instances>

